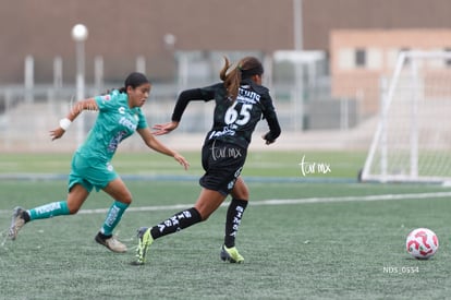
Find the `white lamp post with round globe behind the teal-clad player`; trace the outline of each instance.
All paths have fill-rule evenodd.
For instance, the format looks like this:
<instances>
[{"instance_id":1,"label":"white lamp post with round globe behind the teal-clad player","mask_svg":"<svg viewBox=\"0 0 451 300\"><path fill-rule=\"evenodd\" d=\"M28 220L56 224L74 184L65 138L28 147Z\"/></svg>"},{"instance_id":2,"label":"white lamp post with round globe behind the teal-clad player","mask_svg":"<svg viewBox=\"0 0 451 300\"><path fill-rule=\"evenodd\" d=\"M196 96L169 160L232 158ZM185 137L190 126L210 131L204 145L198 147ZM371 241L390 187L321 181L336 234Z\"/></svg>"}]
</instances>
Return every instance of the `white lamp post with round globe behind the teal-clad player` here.
<instances>
[{"instance_id":1,"label":"white lamp post with round globe behind the teal-clad player","mask_svg":"<svg viewBox=\"0 0 451 300\"><path fill-rule=\"evenodd\" d=\"M75 41L76 49L76 99L82 100L85 97L85 40L87 39L88 31L85 25L76 24L72 28L72 38ZM73 104L71 104L73 105ZM76 143L81 145L84 141L84 118L80 116L77 120Z\"/></svg>"}]
</instances>

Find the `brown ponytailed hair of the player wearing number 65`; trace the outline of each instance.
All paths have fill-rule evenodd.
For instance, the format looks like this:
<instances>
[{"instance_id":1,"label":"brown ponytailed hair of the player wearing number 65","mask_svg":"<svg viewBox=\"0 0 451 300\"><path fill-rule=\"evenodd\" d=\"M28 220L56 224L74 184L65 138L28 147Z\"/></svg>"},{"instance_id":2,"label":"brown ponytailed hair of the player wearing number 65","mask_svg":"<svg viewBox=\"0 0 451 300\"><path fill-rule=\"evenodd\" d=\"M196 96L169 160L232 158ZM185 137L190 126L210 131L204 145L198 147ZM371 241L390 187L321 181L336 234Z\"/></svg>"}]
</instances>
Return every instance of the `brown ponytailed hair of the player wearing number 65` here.
<instances>
[{"instance_id":1,"label":"brown ponytailed hair of the player wearing number 65","mask_svg":"<svg viewBox=\"0 0 451 300\"><path fill-rule=\"evenodd\" d=\"M219 77L224 82L228 96L234 101L237 97L241 81L249 79L253 75L261 75L264 68L257 58L245 57L240 60L236 68L228 72L231 64L227 57L224 57L224 60L226 63L219 73Z\"/></svg>"}]
</instances>

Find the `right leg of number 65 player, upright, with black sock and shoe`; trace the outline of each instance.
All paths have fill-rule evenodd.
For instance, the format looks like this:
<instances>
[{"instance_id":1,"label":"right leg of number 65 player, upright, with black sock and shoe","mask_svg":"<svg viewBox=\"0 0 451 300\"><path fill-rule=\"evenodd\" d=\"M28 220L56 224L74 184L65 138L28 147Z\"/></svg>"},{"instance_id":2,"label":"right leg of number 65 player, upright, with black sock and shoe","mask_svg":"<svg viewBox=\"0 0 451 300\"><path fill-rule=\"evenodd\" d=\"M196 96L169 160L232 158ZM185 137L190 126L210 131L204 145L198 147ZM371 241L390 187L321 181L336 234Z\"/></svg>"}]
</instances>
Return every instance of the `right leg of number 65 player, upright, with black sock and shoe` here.
<instances>
[{"instance_id":1,"label":"right leg of number 65 player, upright, with black sock and shoe","mask_svg":"<svg viewBox=\"0 0 451 300\"><path fill-rule=\"evenodd\" d=\"M235 248L235 238L249 197L248 189L241 176L236 179L231 195L232 201L226 216L224 244L220 256L223 261L241 263L244 259Z\"/></svg>"}]
</instances>

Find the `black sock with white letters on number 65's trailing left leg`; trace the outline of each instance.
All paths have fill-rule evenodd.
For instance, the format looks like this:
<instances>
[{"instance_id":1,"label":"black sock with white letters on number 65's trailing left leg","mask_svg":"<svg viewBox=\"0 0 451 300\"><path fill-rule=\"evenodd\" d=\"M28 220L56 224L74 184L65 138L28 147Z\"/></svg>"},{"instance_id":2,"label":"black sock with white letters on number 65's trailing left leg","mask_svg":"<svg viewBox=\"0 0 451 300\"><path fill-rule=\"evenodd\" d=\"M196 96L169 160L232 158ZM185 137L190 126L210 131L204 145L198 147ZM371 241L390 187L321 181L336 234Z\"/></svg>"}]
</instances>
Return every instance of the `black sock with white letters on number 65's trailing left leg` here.
<instances>
[{"instance_id":1,"label":"black sock with white letters on number 65's trailing left leg","mask_svg":"<svg viewBox=\"0 0 451 300\"><path fill-rule=\"evenodd\" d=\"M166 235L174 233L184 228L187 228L202 220L199 212L192 207L190 209L180 212L169 219L154 226L150 229L150 235L155 239L161 238Z\"/></svg>"}]
</instances>

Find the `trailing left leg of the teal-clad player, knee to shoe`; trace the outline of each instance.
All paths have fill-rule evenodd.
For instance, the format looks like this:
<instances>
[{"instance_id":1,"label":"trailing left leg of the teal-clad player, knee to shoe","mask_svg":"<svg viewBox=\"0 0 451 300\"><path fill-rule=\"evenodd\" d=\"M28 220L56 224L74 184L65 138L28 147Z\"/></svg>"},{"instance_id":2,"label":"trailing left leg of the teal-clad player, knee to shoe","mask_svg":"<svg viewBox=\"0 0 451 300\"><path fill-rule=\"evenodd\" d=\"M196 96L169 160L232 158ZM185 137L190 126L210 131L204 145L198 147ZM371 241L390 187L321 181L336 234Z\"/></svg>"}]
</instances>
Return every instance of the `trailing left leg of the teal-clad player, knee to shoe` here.
<instances>
[{"instance_id":1,"label":"trailing left leg of the teal-clad player, knee to shoe","mask_svg":"<svg viewBox=\"0 0 451 300\"><path fill-rule=\"evenodd\" d=\"M15 207L9 237L15 240L19 230L28 221L76 214L88 195L89 192L82 184L74 184L65 201L48 203L28 211L22 207Z\"/></svg>"}]
</instances>

